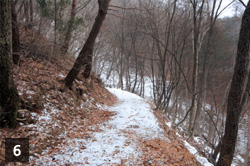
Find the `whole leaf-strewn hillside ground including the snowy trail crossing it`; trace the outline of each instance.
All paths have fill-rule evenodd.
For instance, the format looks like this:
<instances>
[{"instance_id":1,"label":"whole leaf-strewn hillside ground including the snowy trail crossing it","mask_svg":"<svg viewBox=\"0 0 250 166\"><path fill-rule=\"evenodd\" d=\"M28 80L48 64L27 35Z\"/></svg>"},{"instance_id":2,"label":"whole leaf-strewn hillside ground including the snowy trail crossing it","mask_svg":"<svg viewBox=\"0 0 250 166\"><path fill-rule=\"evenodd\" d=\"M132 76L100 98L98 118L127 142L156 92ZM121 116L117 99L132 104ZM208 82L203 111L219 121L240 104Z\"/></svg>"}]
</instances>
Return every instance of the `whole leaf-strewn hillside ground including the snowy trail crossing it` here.
<instances>
[{"instance_id":1,"label":"whole leaf-strewn hillside ground including the snowy trail crossing it","mask_svg":"<svg viewBox=\"0 0 250 166\"><path fill-rule=\"evenodd\" d=\"M5 165L4 138L29 138L32 165L211 165L145 99L107 90L93 73L65 87L73 58L48 56L44 45L39 49L31 40L46 38L22 34L29 38L21 37L27 55L14 66L18 126L0 129L0 165Z\"/></svg>"}]
</instances>

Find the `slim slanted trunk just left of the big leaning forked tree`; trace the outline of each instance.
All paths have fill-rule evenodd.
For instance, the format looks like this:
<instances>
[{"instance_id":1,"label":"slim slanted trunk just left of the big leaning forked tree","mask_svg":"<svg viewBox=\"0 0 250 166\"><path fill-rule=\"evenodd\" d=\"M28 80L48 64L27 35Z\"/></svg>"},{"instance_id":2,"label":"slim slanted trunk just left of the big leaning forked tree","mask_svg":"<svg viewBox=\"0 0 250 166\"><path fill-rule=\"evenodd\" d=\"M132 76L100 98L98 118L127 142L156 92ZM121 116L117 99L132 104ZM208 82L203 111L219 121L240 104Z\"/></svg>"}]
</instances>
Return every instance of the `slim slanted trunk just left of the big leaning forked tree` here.
<instances>
[{"instance_id":1,"label":"slim slanted trunk just left of the big leaning forked tree","mask_svg":"<svg viewBox=\"0 0 250 166\"><path fill-rule=\"evenodd\" d=\"M63 52L67 52L69 49L69 42L70 42L71 34L73 31L75 16L76 16L76 0L73 0L72 7L71 7L70 20L68 21L68 28L67 28L66 35L64 38L64 43L63 43L62 48L61 48L61 50Z\"/></svg>"}]
</instances>

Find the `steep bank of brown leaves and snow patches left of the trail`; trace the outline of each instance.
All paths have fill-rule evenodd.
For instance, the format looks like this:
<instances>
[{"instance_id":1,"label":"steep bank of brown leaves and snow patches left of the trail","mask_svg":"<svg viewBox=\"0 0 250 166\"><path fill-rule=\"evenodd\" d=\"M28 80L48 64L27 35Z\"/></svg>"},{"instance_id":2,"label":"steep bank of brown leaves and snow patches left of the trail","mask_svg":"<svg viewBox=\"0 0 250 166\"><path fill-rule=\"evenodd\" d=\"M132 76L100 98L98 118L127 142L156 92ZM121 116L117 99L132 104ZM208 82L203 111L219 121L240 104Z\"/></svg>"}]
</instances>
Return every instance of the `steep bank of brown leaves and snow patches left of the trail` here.
<instances>
[{"instance_id":1,"label":"steep bank of brown leaves and snow patches left of the trail","mask_svg":"<svg viewBox=\"0 0 250 166\"><path fill-rule=\"evenodd\" d=\"M72 58L42 58L30 54L14 66L14 79L21 99L18 127L0 129L0 165L4 163L4 138L27 138L30 162L43 154L59 151L65 138L87 137L92 125L102 123L113 114L100 107L115 103L116 98L95 75L89 80L78 77L72 90L63 80ZM96 129L97 131L98 129Z\"/></svg>"}]
</instances>

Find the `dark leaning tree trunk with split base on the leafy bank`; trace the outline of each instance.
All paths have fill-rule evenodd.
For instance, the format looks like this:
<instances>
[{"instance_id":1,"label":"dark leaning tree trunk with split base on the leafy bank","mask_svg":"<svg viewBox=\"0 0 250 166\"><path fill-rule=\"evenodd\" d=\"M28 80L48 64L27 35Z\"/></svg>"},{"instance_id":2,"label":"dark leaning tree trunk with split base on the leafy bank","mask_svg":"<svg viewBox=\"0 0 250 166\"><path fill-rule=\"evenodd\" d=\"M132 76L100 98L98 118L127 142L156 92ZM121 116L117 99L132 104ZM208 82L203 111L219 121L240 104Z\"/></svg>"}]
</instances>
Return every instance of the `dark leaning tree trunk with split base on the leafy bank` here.
<instances>
[{"instance_id":1,"label":"dark leaning tree trunk with split base on the leafy bank","mask_svg":"<svg viewBox=\"0 0 250 166\"><path fill-rule=\"evenodd\" d=\"M83 77L85 79L87 79L90 75L91 68L92 68L92 56L93 56L95 40L100 31L102 23L105 20L105 17L108 11L109 2L110 0L98 0L99 10L98 10L98 14L96 16L94 25L89 34L89 37L86 43L84 44L78 58L76 59L76 62L73 68L71 69L67 77L65 78L65 85L68 87L72 86L73 81L76 79L81 69L84 68Z\"/></svg>"}]
</instances>

